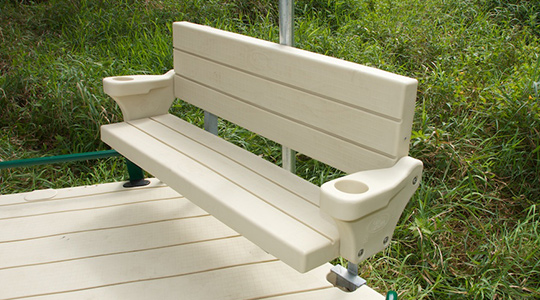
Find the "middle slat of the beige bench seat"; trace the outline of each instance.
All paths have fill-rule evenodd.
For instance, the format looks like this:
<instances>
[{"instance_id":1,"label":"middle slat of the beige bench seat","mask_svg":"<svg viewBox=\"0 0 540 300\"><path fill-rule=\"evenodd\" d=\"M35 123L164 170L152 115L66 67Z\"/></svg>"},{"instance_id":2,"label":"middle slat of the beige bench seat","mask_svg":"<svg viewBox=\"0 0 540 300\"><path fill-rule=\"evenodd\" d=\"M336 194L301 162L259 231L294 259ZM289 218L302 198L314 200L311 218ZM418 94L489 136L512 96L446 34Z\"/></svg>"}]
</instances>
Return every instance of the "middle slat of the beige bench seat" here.
<instances>
[{"instance_id":1,"label":"middle slat of the beige bench seat","mask_svg":"<svg viewBox=\"0 0 540 300\"><path fill-rule=\"evenodd\" d=\"M255 200L270 204L272 207L280 210L284 214L289 215L306 226L309 226L313 230L318 231L321 235L324 235L330 239L332 243L335 243L339 239L339 233L336 229L334 221L329 217L324 218L320 214L319 206L314 204L315 199L306 199L304 195L292 193L291 191L283 188L281 185L273 181L269 181L265 177L265 173L282 174L284 177L296 177L295 175L290 174L289 172L286 172L270 163L267 164L265 173L260 174L254 172L242 161L231 160L229 157L222 154L221 147L219 145L209 147L201 143L198 136L208 136L209 138L212 138L212 140L216 140L216 142L222 142L220 144L224 145L228 144L228 142L206 134L206 132L201 132L203 134L198 135L194 134L195 132L200 131L200 129L193 128L191 125L191 130L186 130L185 128L179 130L173 126L166 127L153 119L130 121L129 124L135 126L148 135L151 135L157 140L167 141L166 144L174 149L182 149L182 153L184 155L212 169L213 172L220 174L222 177L230 181L231 184L237 185L249 191L251 194L256 196ZM183 132L191 132L192 138L187 138ZM245 152L244 156L253 155L239 148L237 148L236 151ZM313 187L316 188L315 186ZM319 195L317 195L317 201L318 198ZM261 212L254 211L253 213L257 214Z\"/></svg>"}]
</instances>

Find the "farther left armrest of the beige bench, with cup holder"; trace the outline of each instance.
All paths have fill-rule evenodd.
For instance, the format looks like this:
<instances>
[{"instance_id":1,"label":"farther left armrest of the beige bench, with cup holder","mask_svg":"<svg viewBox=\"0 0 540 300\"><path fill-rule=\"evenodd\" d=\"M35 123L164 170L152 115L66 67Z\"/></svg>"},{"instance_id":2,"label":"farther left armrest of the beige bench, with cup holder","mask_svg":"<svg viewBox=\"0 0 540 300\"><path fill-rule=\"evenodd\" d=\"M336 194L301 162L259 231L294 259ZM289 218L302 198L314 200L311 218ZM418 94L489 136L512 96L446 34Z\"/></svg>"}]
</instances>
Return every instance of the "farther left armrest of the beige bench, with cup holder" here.
<instances>
[{"instance_id":1,"label":"farther left armrest of the beige bench, with cup holder","mask_svg":"<svg viewBox=\"0 0 540 300\"><path fill-rule=\"evenodd\" d=\"M103 79L103 91L124 115L134 120L166 114L174 101L174 70L163 75L116 76Z\"/></svg>"}]
</instances>

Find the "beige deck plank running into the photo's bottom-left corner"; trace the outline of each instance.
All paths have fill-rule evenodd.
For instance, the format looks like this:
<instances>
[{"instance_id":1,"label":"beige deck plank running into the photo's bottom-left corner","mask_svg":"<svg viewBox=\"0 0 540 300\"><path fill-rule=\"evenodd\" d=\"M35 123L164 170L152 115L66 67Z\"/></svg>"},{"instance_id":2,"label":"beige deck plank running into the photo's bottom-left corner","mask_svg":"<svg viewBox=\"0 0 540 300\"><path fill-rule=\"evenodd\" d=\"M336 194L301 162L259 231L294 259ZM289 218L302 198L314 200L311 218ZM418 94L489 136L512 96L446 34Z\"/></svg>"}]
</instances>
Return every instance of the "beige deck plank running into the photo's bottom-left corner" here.
<instances>
[{"instance_id":1,"label":"beige deck plank running into the photo's bottom-left corner","mask_svg":"<svg viewBox=\"0 0 540 300\"><path fill-rule=\"evenodd\" d=\"M183 259L189 257L189 259ZM1 298L166 279L276 259L243 237L0 270ZM74 272L76 271L76 272ZM49 274L44 277L43 274ZM53 279L53 280L51 280ZM32 285L28 285L32 282Z\"/></svg>"}]
</instances>

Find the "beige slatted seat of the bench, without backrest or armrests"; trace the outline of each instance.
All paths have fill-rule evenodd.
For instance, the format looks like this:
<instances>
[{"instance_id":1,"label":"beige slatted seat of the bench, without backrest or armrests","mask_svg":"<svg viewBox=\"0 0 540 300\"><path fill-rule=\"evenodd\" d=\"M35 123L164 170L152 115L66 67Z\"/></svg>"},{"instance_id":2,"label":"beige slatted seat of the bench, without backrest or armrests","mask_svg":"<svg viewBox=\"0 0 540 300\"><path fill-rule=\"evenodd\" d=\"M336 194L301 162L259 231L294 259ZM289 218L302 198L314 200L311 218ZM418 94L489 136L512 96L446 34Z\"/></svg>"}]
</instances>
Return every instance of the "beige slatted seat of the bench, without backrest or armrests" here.
<instances>
[{"instance_id":1,"label":"beige slatted seat of the bench, without backrest or armrests","mask_svg":"<svg viewBox=\"0 0 540 300\"><path fill-rule=\"evenodd\" d=\"M319 187L170 114L105 125L103 141L297 270L339 255ZM128 137L128 138L125 138Z\"/></svg>"}]
</instances>

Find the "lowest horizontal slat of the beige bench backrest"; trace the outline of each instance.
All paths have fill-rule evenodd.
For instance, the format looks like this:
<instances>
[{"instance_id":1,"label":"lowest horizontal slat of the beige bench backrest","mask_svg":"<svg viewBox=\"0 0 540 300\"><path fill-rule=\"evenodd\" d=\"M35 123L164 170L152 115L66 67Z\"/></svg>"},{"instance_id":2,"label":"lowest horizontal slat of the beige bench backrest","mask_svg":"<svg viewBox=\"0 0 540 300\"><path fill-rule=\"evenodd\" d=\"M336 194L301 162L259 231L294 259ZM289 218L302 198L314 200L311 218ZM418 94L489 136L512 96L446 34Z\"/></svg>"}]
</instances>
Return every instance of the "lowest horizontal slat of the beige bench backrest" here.
<instances>
[{"instance_id":1,"label":"lowest horizontal slat of the beige bench backrest","mask_svg":"<svg viewBox=\"0 0 540 300\"><path fill-rule=\"evenodd\" d=\"M227 120L264 134L306 155L323 161L345 172L391 166L387 156L344 142L332 135L321 134L307 126L298 125L276 114L240 102L237 99L178 76L174 88L182 99L197 99L196 104L207 111L219 112ZM259 120L259 122L253 122ZM294 131L293 134L288 134ZM299 150L301 149L301 150Z\"/></svg>"}]
</instances>

